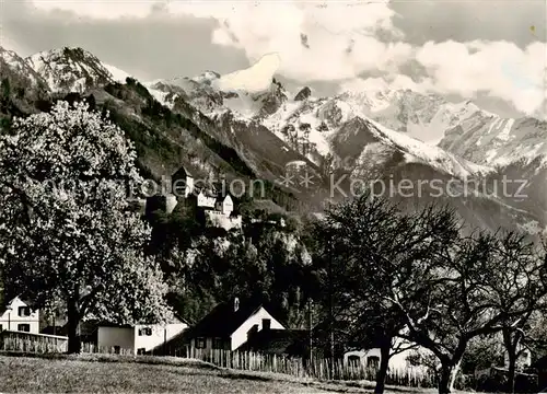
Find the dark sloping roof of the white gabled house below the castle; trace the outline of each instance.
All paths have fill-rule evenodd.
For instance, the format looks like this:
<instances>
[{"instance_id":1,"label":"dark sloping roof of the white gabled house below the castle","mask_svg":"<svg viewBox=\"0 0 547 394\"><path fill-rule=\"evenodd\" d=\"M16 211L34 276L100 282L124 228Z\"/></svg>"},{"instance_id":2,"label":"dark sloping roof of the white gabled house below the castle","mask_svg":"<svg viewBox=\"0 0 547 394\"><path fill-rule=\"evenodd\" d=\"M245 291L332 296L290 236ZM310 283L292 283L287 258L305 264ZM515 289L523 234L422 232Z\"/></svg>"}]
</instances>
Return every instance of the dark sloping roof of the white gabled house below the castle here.
<instances>
[{"instance_id":1,"label":"dark sloping roof of the white gabled house below the castle","mask_svg":"<svg viewBox=\"0 0 547 394\"><path fill-rule=\"evenodd\" d=\"M234 301L220 303L191 328L190 335L228 337L260 308L260 302L240 301L237 311L234 311Z\"/></svg>"}]
</instances>

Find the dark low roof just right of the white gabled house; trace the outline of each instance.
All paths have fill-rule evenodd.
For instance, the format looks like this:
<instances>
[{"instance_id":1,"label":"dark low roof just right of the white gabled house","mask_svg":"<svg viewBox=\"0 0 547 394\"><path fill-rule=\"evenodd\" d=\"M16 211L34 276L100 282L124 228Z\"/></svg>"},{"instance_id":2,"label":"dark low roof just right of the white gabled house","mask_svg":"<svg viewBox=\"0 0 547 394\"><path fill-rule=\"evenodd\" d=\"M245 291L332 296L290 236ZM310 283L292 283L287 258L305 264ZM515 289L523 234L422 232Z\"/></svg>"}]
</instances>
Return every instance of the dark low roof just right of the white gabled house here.
<instances>
[{"instance_id":1,"label":"dark low roof just right of the white gabled house","mask_svg":"<svg viewBox=\"0 0 547 394\"><path fill-rule=\"evenodd\" d=\"M302 356L309 345L306 329L261 329L242 345L242 350Z\"/></svg>"}]
</instances>

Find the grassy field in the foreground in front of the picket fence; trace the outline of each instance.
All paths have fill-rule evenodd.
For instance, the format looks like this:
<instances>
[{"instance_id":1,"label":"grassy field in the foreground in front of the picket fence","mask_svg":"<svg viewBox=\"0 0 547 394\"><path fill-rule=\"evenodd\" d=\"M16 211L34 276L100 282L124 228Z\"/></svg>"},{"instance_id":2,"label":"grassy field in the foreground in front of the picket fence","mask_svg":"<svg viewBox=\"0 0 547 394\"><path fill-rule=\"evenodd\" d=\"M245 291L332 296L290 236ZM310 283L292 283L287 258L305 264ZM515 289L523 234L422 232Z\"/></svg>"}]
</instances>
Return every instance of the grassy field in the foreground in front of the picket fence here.
<instances>
[{"instance_id":1,"label":"grassy field in the foreground in front of the picket fence","mask_svg":"<svg viewBox=\"0 0 547 394\"><path fill-rule=\"evenodd\" d=\"M372 393L372 384L305 382L280 374L220 369L193 360L152 357L0 356L0 393ZM395 393L433 390L391 387Z\"/></svg>"}]
</instances>

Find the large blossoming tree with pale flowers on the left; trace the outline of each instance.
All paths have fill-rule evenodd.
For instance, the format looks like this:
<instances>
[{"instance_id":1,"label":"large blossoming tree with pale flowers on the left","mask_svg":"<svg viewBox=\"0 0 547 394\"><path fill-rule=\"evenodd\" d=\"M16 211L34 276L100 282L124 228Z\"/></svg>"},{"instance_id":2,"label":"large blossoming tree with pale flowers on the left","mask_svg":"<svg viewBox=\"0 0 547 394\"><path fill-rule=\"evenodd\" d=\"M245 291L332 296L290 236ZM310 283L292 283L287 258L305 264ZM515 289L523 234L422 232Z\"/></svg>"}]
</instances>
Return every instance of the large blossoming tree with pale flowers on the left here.
<instances>
[{"instance_id":1,"label":"large blossoming tree with pale flowers on the left","mask_svg":"<svg viewBox=\"0 0 547 394\"><path fill-rule=\"evenodd\" d=\"M141 184L124 132L85 103L15 119L0 136L0 259L37 306L66 302L68 351L85 317L162 321L166 287L144 254L150 229L131 209Z\"/></svg>"}]
</instances>

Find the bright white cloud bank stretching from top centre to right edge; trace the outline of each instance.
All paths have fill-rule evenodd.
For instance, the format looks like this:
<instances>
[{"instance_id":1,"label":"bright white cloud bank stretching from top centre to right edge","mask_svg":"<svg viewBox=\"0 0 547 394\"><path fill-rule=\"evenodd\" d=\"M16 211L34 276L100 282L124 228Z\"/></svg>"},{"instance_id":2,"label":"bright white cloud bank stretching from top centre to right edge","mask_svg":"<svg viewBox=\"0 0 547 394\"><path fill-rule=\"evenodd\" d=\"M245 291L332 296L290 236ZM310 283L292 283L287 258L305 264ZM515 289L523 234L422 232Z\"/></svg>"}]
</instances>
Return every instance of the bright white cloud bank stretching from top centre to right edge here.
<instances>
[{"instance_id":1,"label":"bright white cloud bank stretching from top centre to right edge","mask_svg":"<svg viewBox=\"0 0 547 394\"><path fill-rule=\"evenodd\" d=\"M463 97L486 93L534 115L545 102L545 43L521 48L507 40L430 40L415 46L401 40L387 1L353 7L268 2L222 10L183 8L177 12L220 21L212 36L216 44L242 49L251 61L277 53L281 58L278 72L302 83L340 81L341 89L384 86ZM462 15L467 11L462 8ZM379 39L379 33L386 31L392 39ZM302 45L303 36L306 45ZM419 82L403 74L411 60L426 70L416 79ZM362 74L382 77L361 80Z\"/></svg>"}]
</instances>

